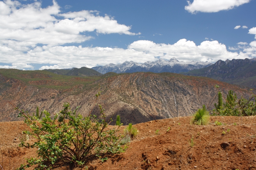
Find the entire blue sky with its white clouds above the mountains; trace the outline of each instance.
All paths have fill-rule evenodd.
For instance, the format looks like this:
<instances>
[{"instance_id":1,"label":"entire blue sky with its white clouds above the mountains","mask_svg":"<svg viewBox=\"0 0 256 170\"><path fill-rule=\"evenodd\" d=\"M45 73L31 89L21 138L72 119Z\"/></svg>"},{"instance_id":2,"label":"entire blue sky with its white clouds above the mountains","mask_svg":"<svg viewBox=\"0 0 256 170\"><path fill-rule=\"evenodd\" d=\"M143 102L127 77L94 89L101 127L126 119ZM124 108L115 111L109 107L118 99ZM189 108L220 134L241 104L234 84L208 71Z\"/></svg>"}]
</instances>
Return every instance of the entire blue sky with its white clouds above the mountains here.
<instances>
[{"instance_id":1,"label":"entire blue sky with its white clouds above the mountains","mask_svg":"<svg viewBox=\"0 0 256 170\"><path fill-rule=\"evenodd\" d=\"M256 0L4 0L0 68L255 58L255 7Z\"/></svg>"}]
</instances>

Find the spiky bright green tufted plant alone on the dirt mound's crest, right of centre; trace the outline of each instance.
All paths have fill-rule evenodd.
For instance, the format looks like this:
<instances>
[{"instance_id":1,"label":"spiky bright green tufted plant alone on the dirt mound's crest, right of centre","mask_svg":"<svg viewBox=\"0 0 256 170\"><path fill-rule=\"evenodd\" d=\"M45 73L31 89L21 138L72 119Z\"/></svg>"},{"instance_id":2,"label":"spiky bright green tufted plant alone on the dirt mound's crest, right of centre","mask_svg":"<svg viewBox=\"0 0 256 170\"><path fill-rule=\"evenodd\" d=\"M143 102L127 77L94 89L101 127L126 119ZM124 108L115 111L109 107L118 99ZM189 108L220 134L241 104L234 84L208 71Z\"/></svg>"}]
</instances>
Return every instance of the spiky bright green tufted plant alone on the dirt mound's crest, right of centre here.
<instances>
[{"instance_id":1,"label":"spiky bright green tufted plant alone on the dirt mound's crest, right of centre","mask_svg":"<svg viewBox=\"0 0 256 170\"><path fill-rule=\"evenodd\" d=\"M192 124L198 125L206 125L209 122L209 112L205 109L205 105L203 105L202 109L198 109L196 113L193 115L193 119L191 121Z\"/></svg>"}]
</instances>

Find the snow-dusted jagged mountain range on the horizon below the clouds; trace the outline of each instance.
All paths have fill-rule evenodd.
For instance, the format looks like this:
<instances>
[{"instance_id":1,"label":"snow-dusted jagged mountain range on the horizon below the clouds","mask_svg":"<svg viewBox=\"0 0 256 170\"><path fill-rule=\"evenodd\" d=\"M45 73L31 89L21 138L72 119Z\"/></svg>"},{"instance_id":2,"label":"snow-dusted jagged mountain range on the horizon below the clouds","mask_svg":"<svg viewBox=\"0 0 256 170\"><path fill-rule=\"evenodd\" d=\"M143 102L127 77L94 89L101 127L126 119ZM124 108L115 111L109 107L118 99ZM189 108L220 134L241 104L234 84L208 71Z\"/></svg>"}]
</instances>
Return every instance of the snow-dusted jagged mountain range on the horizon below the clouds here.
<instances>
[{"instance_id":1,"label":"snow-dusted jagged mountain range on the horizon below the clouds","mask_svg":"<svg viewBox=\"0 0 256 170\"><path fill-rule=\"evenodd\" d=\"M175 57L170 60L147 61L145 63L136 63L133 61L125 61L122 64L107 64L105 66L92 67L92 69L106 74L108 72L114 73L134 73L134 72L153 72L153 73L180 73L187 72L194 69L211 66L210 62L201 61L178 61Z\"/></svg>"}]
</instances>

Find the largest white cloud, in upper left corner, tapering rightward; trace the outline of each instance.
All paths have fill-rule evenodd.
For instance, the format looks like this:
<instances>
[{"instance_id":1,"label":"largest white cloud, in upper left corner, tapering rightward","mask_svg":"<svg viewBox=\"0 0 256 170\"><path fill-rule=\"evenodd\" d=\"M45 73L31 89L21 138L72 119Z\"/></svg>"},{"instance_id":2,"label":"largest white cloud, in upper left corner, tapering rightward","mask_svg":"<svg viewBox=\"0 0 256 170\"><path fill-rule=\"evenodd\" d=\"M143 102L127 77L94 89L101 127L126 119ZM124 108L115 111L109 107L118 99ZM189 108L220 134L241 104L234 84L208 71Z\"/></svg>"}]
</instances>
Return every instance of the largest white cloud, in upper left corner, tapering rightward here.
<instances>
[{"instance_id":1,"label":"largest white cloud, in upper left corner, tapering rightward","mask_svg":"<svg viewBox=\"0 0 256 170\"><path fill-rule=\"evenodd\" d=\"M21 4L18 1L0 1L0 41L12 44L22 42L24 46L36 44L61 45L81 43L92 39L86 32L102 34L136 35L131 26L118 24L108 15L100 16L98 11L61 13L55 0L53 5L41 7L41 2ZM137 33L140 34L140 33Z\"/></svg>"}]
</instances>

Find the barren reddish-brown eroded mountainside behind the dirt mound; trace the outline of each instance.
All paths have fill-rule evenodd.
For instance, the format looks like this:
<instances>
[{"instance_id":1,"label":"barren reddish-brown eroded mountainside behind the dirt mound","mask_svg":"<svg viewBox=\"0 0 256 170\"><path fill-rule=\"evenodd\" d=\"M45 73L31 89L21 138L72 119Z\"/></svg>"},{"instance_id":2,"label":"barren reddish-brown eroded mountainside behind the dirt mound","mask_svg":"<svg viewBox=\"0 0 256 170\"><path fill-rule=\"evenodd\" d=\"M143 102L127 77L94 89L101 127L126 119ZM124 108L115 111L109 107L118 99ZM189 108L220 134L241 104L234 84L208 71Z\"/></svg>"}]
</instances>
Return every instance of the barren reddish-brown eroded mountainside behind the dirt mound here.
<instances>
[{"instance_id":1,"label":"barren reddish-brown eroded mountainside behind the dirt mound","mask_svg":"<svg viewBox=\"0 0 256 170\"><path fill-rule=\"evenodd\" d=\"M203 104L211 108L217 101L215 84L220 85L224 92L233 89L237 96L249 96L248 89L245 88L209 78L173 73L117 74L64 90L39 88L36 84L54 84L54 80L24 83L4 76L0 76L0 80L0 121L21 120L17 117L17 110L13 110L8 101L30 113L35 112L37 106L40 110L56 113L62 109L64 102L68 102L72 109L81 106L78 111L84 116L90 112L97 115L97 103L106 109L108 118L115 120L120 115L122 123L137 124L155 119L188 116ZM67 82L58 83L58 86L62 86L62 83ZM102 92L95 103L95 94L99 87Z\"/></svg>"}]
</instances>

